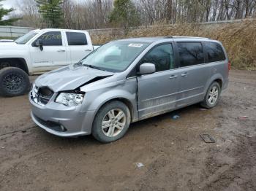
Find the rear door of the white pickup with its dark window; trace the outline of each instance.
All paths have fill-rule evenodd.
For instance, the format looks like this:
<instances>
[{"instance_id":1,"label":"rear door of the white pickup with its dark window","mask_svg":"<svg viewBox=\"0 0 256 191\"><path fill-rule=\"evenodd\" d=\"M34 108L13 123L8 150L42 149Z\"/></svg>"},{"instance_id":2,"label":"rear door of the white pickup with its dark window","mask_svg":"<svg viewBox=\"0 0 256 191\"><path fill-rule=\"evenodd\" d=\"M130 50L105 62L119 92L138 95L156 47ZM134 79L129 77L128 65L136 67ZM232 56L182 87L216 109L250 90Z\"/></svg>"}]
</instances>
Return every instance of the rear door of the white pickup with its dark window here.
<instances>
[{"instance_id":1,"label":"rear door of the white pickup with its dark window","mask_svg":"<svg viewBox=\"0 0 256 191\"><path fill-rule=\"evenodd\" d=\"M77 63L92 50L91 39L86 32L67 31L67 49L71 63Z\"/></svg>"}]
</instances>

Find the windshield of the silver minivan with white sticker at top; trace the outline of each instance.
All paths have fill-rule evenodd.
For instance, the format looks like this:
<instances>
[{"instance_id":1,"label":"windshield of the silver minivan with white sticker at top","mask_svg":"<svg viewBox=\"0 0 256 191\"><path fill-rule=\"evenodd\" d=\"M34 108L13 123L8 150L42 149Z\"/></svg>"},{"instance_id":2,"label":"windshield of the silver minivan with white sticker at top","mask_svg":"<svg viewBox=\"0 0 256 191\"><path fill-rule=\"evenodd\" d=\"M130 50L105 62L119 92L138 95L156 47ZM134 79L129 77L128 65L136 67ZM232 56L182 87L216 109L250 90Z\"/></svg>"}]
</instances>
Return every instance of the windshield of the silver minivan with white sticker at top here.
<instances>
[{"instance_id":1,"label":"windshield of the silver minivan with white sticker at top","mask_svg":"<svg viewBox=\"0 0 256 191\"><path fill-rule=\"evenodd\" d=\"M104 44L80 61L84 66L105 71L124 71L149 43L116 41Z\"/></svg>"}]
</instances>

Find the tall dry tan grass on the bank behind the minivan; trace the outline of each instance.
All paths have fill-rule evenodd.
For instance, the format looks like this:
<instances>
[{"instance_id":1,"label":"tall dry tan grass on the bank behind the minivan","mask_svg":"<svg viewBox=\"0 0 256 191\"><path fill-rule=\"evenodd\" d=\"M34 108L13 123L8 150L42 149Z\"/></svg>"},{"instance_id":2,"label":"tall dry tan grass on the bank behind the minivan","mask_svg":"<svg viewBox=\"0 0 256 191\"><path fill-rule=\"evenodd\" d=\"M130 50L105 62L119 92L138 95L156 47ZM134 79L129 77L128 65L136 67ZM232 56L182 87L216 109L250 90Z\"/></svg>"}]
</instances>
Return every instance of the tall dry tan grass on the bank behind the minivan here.
<instances>
[{"instance_id":1,"label":"tall dry tan grass on the bank behind the minivan","mask_svg":"<svg viewBox=\"0 0 256 191\"><path fill-rule=\"evenodd\" d=\"M217 39L225 46L233 69L256 70L256 20L239 23L198 25L179 23L173 26L155 25L129 31L92 35L94 44L103 44L113 39L142 36L203 36Z\"/></svg>"}]
</instances>

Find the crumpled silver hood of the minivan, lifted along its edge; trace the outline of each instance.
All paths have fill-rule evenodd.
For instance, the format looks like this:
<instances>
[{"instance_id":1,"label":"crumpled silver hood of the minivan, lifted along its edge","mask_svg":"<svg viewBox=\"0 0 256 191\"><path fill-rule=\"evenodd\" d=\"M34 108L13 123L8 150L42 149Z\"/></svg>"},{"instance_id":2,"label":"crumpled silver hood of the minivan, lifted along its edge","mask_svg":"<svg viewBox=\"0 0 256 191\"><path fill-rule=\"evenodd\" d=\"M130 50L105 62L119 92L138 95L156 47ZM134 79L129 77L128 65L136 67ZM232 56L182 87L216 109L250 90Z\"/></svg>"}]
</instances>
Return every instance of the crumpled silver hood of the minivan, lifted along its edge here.
<instances>
[{"instance_id":1,"label":"crumpled silver hood of the minivan, lifted along its edge","mask_svg":"<svg viewBox=\"0 0 256 191\"><path fill-rule=\"evenodd\" d=\"M91 69L86 66L69 65L46 74L42 74L35 81L37 87L49 87L54 92L75 90L75 88L89 82L96 77L108 77L113 73Z\"/></svg>"}]
</instances>

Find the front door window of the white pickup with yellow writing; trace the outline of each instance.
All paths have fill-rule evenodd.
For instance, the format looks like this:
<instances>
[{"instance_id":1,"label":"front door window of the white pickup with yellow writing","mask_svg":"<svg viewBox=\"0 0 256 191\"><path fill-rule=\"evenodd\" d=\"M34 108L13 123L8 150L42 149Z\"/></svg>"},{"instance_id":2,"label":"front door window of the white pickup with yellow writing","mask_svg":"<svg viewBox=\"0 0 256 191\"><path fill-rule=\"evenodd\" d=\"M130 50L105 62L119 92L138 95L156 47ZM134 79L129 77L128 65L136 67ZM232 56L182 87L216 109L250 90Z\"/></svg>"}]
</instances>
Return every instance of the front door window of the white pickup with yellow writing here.
<instances>
[{"instance_id":1,"label":"front door window of the white pickup with yellow writing","mask_svg":"<svg viewBox=\"0 0 256 191\"><path fill-rule=\"evenodd\" d=\"M51 31L46 32L38 37L42 40L44 46L62 46L61 32Z\"/></svg>"}]
</instances>

